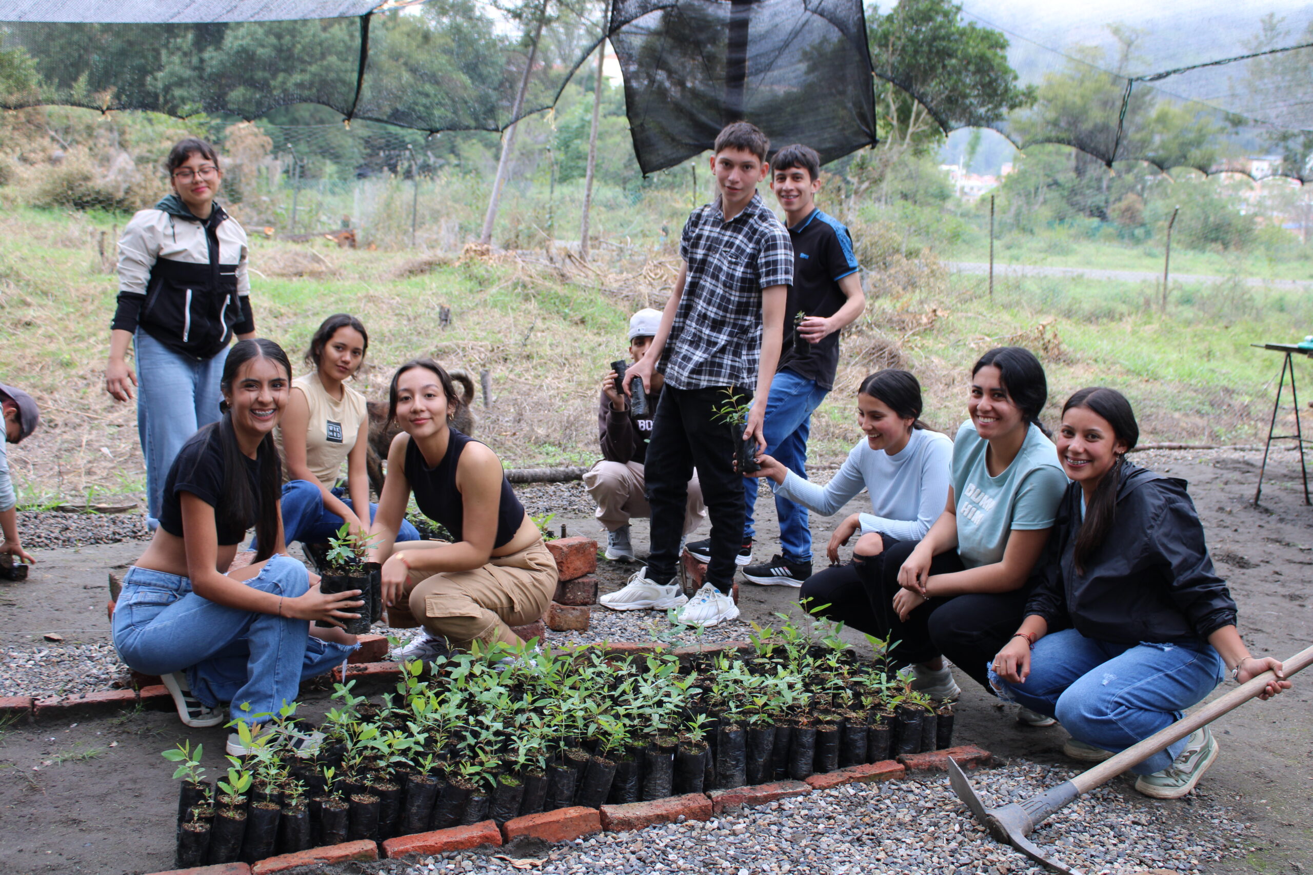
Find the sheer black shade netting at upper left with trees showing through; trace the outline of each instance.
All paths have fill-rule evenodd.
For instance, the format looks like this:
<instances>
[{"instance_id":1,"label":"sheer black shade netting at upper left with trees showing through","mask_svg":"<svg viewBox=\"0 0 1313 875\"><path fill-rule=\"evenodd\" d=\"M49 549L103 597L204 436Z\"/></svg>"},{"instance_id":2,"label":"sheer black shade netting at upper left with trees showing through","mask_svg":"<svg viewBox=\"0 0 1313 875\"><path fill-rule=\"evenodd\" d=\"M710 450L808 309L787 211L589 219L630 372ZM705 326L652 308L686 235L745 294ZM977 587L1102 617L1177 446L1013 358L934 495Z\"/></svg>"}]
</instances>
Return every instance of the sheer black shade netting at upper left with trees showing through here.
<instances>
[{"instance_id":1,"label":"sheer black shade netting at upper left with trees showing through","mask_svg":"<svg viewBox=\"0 0 1313 875\"><path fill-rule=\"evenodd\" d=\"M311 12L360 4L288 3L289 18L186 22L160 4L130 22L16 20L25 3L0 0L0 108L42 104L255 119L318 104L348 119L423 131L500 131L529 64L541 4L520 17L475 0L356 17ZM280 4L219 4L278 7ZM20 7L17 9L11 7ZM150 4L135 4L147 10ZM236 18L236 16L232 16ZM252 14L251 18L255 16ZM548 4L519 117L551 106L604 35L600 8Z\"/></svg>"}]
</instances>

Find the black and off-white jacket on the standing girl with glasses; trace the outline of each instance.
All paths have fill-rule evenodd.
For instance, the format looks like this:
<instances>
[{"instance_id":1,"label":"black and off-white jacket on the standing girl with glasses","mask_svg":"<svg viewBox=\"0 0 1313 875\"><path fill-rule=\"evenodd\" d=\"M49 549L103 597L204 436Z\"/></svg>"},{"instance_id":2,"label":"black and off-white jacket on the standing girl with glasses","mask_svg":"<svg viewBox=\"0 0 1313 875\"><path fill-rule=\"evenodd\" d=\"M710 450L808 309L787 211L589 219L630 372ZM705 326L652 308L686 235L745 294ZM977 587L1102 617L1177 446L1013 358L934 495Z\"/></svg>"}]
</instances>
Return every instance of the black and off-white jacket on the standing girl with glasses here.
<instances>
[{"instance_id":1,"label":"black and off-white jacket on the standing girl with glasses","mask_svg":"<svg viewBox=\"0 0 1313 875\"><path fill-rule=\"evenodd\" d=\"M140 210L118 241L112 328L143 332L184 356L211 358L255 331L247 236L218 203L197 219L171 194Z\"/></svg>"}]
</instances>

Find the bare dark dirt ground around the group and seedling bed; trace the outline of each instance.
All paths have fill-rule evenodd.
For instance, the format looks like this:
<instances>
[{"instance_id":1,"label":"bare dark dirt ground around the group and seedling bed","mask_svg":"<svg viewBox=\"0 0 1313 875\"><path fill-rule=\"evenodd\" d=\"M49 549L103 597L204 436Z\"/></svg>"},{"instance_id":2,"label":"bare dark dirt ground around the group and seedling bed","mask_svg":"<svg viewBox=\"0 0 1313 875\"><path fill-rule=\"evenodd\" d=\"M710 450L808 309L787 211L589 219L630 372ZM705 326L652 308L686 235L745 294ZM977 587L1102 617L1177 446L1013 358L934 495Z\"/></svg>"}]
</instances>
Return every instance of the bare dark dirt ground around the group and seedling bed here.
<instances>
[{"instance_id":1,"label":"bare dark dirt ground around the group and seedling bed","mask_svg":"<svg viewBox=\"0 0 1313 875\"><path fill-rule=\"evenodd\" d=\"M1241 632L1255 653L1285 657L1313 641L1313 508L1302 502L1297 457L1276 453L1268 463L1263 502L1254 508L1258 453L1153 453L1137 460L1184 478L1208 531L1218 569L1241 607ZM826 475L822 475L823 479ZM758 558L772 546L773 509L758 510ZM859 496L843 513L856 510ZM600 533L578 516L558 517L571 534ZM813 517L818 556L832 519ZM646 526L634 526L645 548ZM0 582L0 644L35 645L56 631L66 641L108 640L105 572L130 563L140 544L53 550L24 584ZM823 561L823 558L821 559ZM630 567L603 568L618 585ZM748 619L773 619L793 592L743 584ZM1061 728L1023 729L1011 710L970 686L964 676L956 737L999 757L1061 762ZM1222 690L1226 687L1224 686ZM1222 754L1194 798L1148 800L1117 779L1129 812L1138 805L1226 804L1254 824L1255 850L1243 859L1207 865L1211 875L1313 871L1313 674L1270 703L1251 703L1216 724ZM310 715L327 707L306 702ZM189 729L173 714L125 712L75 724L0 728L0 872L122 872L172 865L176 784L160 752L183 739L205 744L210 774L219 771L223 729Z\"/></svg>"}]
</instances>

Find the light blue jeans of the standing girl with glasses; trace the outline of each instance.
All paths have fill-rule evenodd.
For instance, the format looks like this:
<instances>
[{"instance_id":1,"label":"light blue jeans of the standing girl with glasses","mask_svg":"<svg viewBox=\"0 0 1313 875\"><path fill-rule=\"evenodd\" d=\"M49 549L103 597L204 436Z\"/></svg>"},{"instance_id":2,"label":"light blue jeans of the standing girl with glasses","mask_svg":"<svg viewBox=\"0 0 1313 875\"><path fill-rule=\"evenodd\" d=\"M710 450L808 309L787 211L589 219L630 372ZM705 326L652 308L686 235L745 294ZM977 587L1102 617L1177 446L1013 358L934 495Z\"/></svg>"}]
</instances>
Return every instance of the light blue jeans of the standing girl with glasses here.
<instances>
[{"instance_id":1,"label":"light blue jeans of the standing girl with glasses","mask_svg":"<svg viewBox=\"0 0 1313 875\"><path fill-rule=\"evenodd\" d=\"M133 336L137 363L137 434L146 459L146 525L159 526L164 480L186 438L219 418L219 378L228 350L197 361L146 332Z\"/></svg>"}]
</instances>

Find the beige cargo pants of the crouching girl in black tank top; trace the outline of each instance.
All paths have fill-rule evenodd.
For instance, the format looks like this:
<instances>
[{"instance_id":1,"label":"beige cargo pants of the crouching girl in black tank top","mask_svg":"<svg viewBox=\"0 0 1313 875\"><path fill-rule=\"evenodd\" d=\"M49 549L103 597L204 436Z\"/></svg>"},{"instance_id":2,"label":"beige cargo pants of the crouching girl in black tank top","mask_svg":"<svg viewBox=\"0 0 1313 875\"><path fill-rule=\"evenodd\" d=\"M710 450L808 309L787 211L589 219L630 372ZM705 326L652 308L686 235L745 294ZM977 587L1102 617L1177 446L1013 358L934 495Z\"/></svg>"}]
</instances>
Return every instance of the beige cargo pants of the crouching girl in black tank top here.
<instances>
[{"instance_id":1,"label":"beige cargo pants of the crouching girl in black tank top","mask_svg":"<svg viewBox=\"0 0 1313 875\"><path fill-rule=\"evenodd\" d=\"M406 544L407 550L414 544ZM512 626L537 622L557 592L557 563L541 539L471 571L444 571L415 584L410 610L453 647L521 644Z\"/></svg>"}]
</instances>

